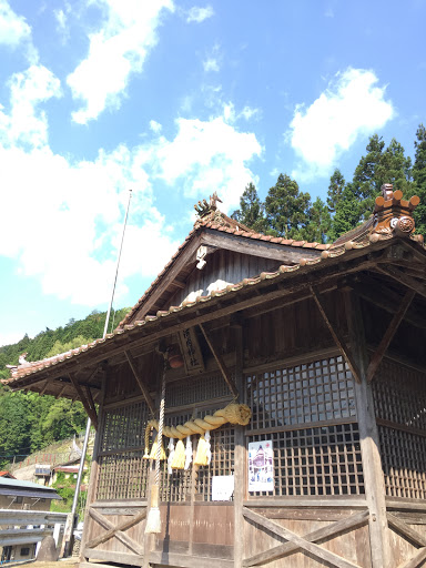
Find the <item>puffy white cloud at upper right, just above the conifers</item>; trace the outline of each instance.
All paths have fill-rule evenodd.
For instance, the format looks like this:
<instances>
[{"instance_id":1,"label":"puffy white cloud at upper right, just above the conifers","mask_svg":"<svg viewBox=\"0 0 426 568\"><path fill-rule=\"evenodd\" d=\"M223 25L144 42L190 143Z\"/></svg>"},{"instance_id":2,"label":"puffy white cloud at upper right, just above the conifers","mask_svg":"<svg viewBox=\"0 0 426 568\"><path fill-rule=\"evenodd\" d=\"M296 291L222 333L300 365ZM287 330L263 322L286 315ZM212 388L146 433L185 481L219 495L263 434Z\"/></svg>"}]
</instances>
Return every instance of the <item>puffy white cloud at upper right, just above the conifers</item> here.
<instances>
[{"instance_id":1,"label":"puffy white cloud at upper right, just above the conifers","mask_svg":"<svg viewBox=\"0 0 426 568\"><path fill-rule=\"evenodd\" d=\"M296 106L287 134L302 162L292 175L328 175L358 136L372 134L394 118L386 87L377 83L373 71L348 68L308 108Z\"/></svg>"}]
</instances>

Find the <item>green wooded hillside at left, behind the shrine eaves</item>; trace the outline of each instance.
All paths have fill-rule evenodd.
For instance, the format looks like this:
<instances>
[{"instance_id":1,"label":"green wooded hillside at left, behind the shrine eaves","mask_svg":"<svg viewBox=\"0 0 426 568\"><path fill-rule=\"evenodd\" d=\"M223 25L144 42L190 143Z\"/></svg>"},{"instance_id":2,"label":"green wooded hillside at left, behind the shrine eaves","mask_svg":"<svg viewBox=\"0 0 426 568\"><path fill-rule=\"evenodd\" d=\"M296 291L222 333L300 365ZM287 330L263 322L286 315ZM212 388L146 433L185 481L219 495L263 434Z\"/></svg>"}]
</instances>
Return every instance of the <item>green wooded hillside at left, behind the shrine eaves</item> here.
<instances>
[{"instance_id":1,"label":"green wooded hillside at left, behind the shrine eaves","mask_svg":"<svg viewBox=\"0 0 426 568\"><path fill-rule=\"evenodd\" d=\"M128 311L122 308L114 314L115 324ZM39 361L101 337L105 316L105 312L92 312L85 320L70 320L63 327L47 328L33 338L24 335L20 342L0 347L0 378L9 377L6 365L18 364L19 355L24 352L27 361ZM19 460L80 433L85 420L84 409L78 402L36 393L12 393L0 384L0 469L14 457Z\"/></svg>"}]
</instances>

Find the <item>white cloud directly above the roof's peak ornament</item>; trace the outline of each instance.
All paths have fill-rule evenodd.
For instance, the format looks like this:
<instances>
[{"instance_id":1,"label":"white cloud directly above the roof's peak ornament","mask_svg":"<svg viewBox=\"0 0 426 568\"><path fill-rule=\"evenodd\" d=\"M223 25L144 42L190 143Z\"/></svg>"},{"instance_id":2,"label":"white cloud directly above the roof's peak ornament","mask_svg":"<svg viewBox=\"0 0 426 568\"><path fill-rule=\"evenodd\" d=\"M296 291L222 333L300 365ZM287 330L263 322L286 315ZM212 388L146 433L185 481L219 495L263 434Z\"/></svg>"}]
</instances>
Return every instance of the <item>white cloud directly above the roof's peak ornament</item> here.
<instances>
[{"instance_id":1,"label":"white cloud directly above the roof's peak ornament","mask_svg":"<svg viewBox=\"0 0 426 568\"><path fill-rule=\"evenodd\" d=\"M250 162L262 148L253 133L233 124L232 104L207 121L178 119L173 141L161 139L155 151L158 175L169 184L182 183L186 196L206 196L217 191L224 210L237 205L246 184L255 176Z\"/></svg>"}]
</instances>

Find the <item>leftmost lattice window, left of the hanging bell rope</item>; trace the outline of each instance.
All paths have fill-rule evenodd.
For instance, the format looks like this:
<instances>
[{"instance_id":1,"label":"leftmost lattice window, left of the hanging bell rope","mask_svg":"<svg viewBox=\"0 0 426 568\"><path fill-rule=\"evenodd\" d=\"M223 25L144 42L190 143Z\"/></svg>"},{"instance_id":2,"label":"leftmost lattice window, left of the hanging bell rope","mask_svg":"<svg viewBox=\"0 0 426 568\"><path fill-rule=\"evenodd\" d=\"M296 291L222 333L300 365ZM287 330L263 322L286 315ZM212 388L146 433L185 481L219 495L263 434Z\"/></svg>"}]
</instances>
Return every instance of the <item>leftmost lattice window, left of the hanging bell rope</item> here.
<instances>
[{"instance_id":1,"label":"leftmost lattice window, left of the hanging bell rope","mask_svg":"<svg viewBox=\"0 0 426 568\"><path fill-rule=\"evenodd\" d=\"M98 499L146 498L149 463L142 459L146 419L144 403L104 410Z\"/></svg>"}]
</instances>

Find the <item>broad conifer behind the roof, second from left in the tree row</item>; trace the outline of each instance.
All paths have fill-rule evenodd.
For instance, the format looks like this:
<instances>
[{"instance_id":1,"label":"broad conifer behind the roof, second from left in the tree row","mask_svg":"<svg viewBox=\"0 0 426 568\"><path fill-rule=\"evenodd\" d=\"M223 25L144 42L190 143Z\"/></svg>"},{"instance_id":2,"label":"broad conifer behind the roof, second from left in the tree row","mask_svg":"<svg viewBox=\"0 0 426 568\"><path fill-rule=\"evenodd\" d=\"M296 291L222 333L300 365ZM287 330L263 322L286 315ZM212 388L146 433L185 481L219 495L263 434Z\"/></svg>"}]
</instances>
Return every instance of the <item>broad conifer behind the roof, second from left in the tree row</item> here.
<instances>
[{"instance_id":1,"label":"broad conifer behind the roof, second from left in the tree row","mask_svg":"<svg viewBox=\"0 0 426 568\"><path fill-rule=\"evenodd\" d=\"M302 239L308 223L311 195L300 191L297 182L280 174L265 199L267 232L285 239Z\"/></svg>"}]
</instances>

